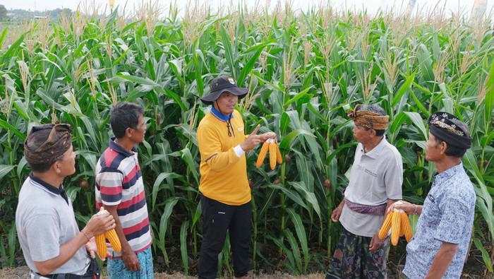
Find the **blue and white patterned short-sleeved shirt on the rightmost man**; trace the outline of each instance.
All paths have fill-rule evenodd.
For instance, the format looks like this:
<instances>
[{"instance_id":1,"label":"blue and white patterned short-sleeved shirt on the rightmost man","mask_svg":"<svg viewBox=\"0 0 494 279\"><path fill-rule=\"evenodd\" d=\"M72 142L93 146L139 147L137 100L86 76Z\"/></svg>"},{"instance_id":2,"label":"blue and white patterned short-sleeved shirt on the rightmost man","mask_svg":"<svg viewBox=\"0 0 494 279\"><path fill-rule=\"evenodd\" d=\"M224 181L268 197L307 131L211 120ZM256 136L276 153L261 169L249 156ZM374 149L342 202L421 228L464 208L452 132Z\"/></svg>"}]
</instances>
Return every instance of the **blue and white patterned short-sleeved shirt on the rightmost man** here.
<instances>
[{"instance_id":1,"label":"blue and white patterned short-sleeved shirt on the rightmost man","mask_svg":"<svg viewBox=\"0 0 494 279\"><path fill-rule=\"evenodd\" d=\"M408 278L426 277L442 242L458 244L443 278L462 275L474 224L475 201L474 186L462 163L434 177L414 238L406 245L403 273Z\"/></svg>"}]
</instances>

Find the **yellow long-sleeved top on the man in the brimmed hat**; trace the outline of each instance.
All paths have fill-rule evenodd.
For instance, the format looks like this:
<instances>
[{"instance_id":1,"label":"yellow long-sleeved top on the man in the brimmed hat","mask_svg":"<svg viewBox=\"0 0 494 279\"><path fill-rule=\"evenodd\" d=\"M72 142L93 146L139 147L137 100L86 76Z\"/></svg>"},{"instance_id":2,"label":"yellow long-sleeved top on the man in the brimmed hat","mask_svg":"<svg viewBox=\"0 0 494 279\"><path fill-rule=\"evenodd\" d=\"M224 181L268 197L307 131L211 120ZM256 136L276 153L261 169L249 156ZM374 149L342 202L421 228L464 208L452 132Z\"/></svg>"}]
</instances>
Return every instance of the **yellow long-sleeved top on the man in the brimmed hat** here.
<instances>
[{"instance_id":1,"label":"yellow long-sleeved top on the man in the brimmed hat","mask_svg":"<svg viewBox=\"0 0 494 279\"><path fill-rule=\"evenodd\" d=\"M246 155L239 157L234 150L246 139L242 116L236 110L231 117L231 126L234 135L229 136L227 122L212 113L206 114L199 123L199 191L220 203L240 206L251 201L251 187L247 179Z\"/></svg>"}]
</instances>

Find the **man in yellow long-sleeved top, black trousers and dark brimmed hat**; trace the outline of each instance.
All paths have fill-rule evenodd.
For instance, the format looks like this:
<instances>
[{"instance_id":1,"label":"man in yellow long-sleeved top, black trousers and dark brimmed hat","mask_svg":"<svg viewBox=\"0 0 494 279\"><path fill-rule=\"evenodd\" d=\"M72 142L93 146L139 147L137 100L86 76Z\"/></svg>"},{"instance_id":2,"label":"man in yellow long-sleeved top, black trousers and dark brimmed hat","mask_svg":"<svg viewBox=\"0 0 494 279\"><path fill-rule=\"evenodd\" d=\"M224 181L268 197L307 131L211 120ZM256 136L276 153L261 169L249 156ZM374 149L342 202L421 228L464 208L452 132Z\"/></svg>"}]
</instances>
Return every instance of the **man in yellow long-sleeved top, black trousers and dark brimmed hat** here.
<instances>
[{"instance_id":1,"label":"man in yellow long-sleeved top, black trousers and dark brimmed hat","mask_svg":"<svg viewBox=\"0 0 494 279\"><path fill-rule=\"evenodd\" d=\"M235 277L245 277L251 270L251 187L245 153L276 134L257 135L258 127L245 134L242 116L234 107L246 94L247 88L238 88L233 78L219 76L210 83L210 93L201 98L211 105L211 111L197 131L203 215L199 278L216 278L218 254L227 232Z\"/></svg>"}]
</instances>

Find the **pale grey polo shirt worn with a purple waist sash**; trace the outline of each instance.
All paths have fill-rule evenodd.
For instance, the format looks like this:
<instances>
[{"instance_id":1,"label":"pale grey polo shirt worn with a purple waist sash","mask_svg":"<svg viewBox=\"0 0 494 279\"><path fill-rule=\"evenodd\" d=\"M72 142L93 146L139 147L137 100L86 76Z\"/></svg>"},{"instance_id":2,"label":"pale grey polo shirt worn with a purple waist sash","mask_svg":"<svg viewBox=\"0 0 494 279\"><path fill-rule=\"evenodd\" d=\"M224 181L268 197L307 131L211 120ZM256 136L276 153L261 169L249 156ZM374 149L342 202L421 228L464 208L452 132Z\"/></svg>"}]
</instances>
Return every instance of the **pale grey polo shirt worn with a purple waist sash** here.
<instances>
[{"instance_id":1,"label":"pale grey polo shirt worn with a purple waist sash","mask_svg":"<svg viewBox=\"0 0 494 279\"><path fill-rule=\"evenodd\" d=\"M386 203L387 199L402 199L402 182L402 155L386 141L386 137L368 153L359 143L344 197L352 203L378 206ZM384 216L361 214L343 206L339 222L354 235L373 237L383 219Z\"/></svg>"}]
</instances>

